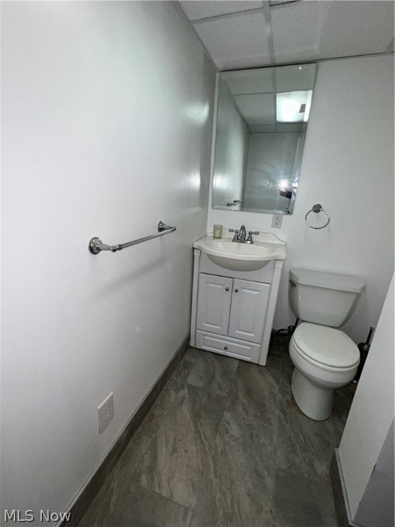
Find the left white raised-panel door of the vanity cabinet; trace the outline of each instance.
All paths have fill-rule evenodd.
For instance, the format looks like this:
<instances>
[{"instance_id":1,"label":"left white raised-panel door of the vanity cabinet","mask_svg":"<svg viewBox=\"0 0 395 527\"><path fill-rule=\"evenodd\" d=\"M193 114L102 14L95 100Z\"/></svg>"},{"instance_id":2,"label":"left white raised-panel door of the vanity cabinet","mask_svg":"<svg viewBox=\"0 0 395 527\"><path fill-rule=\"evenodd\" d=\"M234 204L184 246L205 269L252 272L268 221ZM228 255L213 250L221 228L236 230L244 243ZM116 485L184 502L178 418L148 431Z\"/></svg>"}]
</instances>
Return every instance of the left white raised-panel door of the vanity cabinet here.
<instances>
[{"instance_id":1,"label":"left white raised-panel door of the vanity cabinet","mask_svg":"<svg viewBox=\"0 0 395 527\"><path fill-rule=\"evenodd\" d=\"M213 274L199 274L197 290L196 327L219 335L228 334L230 298L232 296L231 278L217 277Z\"/></svg>"}]
</instances>

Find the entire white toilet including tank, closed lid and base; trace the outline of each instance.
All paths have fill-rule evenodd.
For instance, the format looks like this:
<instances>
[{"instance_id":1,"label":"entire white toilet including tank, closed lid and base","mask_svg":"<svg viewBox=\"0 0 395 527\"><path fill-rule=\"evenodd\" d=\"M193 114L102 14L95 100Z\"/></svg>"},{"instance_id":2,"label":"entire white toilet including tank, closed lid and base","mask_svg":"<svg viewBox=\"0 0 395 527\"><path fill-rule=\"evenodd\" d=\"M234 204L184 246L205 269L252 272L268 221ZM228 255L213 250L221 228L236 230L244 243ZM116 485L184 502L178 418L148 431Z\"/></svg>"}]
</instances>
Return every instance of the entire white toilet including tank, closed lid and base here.
<instances>
[{"instance_id":1,"label":"entire white toilet including tank, closed lid and base","mask_svg":"<svg viewBox=\"0 0 395 527\"><path fill-rule=\"evenodd\" d=\"M331 415L333 390L357 373L357 345L334 328L350 318L366 283L346 274L302 268L292 268L289 278L289 303L302 320L289 342L295 366L292 394L307 417L322 421Z\"/></svg>"}]
</instances>

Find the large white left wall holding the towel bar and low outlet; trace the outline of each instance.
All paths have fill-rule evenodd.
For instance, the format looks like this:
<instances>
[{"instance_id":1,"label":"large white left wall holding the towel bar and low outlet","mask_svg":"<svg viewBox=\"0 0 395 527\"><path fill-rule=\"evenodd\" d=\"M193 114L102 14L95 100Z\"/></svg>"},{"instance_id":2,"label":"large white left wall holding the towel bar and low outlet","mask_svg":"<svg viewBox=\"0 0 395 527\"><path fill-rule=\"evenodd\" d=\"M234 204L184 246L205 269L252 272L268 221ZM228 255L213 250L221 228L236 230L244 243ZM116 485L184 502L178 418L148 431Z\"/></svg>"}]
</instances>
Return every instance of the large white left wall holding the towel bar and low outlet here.
<instances>
[{"instance_id":1,"label":"large white left wall holding the towel bar and low outlet","mask_svg":"<svg viewBox=\"0 0 395 527\"><path fill-rule=\"evenodd\" d=\"M2 506L63 511L189 333L215 73L169 2L1 10Z\"/></svg>"}]
</instances>

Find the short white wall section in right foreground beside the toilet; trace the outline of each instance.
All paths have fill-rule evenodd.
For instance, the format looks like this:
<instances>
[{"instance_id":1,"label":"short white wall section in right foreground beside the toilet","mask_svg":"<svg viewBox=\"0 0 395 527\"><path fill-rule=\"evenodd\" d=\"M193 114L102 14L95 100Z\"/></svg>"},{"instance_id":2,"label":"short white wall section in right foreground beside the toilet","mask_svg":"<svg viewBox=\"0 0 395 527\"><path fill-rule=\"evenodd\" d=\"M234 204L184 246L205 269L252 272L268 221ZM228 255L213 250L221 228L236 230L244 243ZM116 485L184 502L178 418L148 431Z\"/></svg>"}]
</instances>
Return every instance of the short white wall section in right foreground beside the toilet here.
<instances>
[{"instance_id":1,"label":"short white wall section in right foreground beside the toilet","mask_svg":"<svg viewBox=\"0 0 395 527\"><path fill-rule=\"evenodd\" d=\"M394 419L394 279L352 401L339 459L352 519Z\"/></svg>"}]
</instances>

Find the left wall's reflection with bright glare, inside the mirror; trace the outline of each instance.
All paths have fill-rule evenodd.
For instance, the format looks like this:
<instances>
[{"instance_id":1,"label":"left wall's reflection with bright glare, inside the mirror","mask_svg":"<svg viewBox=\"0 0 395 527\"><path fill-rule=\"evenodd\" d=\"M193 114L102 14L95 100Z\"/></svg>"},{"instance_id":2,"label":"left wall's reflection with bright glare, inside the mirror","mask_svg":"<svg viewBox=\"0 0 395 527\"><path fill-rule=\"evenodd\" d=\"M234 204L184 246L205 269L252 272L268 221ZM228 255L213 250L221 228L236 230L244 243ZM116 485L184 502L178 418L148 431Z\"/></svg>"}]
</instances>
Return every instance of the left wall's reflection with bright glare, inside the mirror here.
<instances>
[{"instance_id":1,"label":"left wall's reflection with bright glare, inside the mirror","mask_svg":"<svg viewBox=\"0 0 395 527\"><path fill-rule=\"evenodd\" d=\"M223 80L219 82L219 92L213 192L215 202L226 207L228 201L243 198L250 128Z\"/></svg>"}]
</instances>

